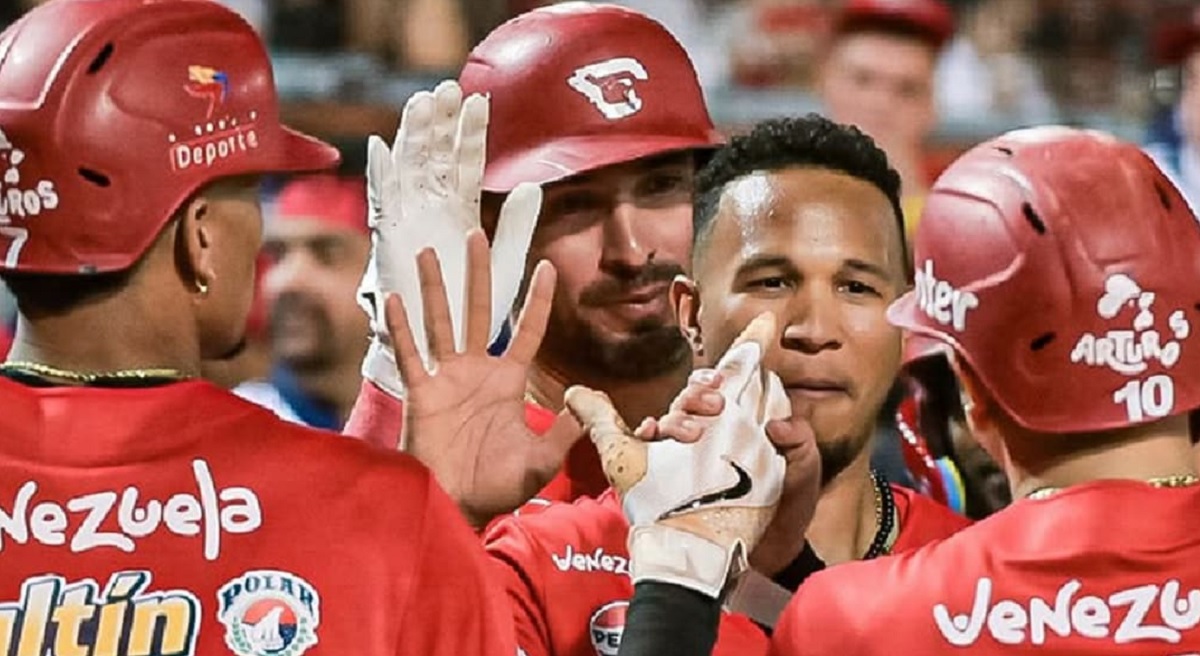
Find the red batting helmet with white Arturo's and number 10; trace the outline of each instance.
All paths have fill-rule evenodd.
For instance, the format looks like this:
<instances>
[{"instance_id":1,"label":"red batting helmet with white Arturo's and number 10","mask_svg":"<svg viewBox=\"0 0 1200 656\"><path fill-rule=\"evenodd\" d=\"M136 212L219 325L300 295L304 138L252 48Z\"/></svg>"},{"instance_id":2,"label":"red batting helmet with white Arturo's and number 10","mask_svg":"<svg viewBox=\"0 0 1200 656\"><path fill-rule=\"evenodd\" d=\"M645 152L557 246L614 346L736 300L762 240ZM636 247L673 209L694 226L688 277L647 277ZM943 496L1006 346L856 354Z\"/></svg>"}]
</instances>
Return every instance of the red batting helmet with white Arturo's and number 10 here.
<instances>
[{"instance_id":1,"label":"red batting helmet with white Arturo's and number 10","mask_svg":"<svg viewBox=\"0 0 1200 656\"><path fill-rule=\"evenodd\" d=\"M1021 426L1200 405L1200 224L1136 146L1064 127L976 146L934 185L914 254L890 319L949 343Z\"/></svg>"}]
</instances>

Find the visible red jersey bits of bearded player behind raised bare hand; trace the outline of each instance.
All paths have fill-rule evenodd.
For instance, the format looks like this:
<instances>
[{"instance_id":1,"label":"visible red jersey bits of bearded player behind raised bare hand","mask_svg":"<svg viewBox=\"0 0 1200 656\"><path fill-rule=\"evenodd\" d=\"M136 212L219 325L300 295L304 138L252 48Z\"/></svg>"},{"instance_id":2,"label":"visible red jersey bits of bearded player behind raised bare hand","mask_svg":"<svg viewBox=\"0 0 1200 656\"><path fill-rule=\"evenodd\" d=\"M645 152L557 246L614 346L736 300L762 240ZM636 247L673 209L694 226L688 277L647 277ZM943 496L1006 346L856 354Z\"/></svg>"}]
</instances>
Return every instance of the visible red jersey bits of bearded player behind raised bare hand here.
<instances>
[{"instance_id":1,"label":"visible red jersey bits of bearded player behind raised bare hand","mask_svg":"<svg viewBox=\"0 0 1200 656\"><path fill-rule=\"evenodd\" d=\"M557 415L536 403L526 403L526 426L539 435L550 431ZM383 449L400 449L404 422L404 404L368 380L362 381L354 409L342 431ZM544 501L574 501L580 496L598 496L608 487L600 456L592 440L581 439L568 453L563 470L538 493Z\"/></svg>"}]
</instances>

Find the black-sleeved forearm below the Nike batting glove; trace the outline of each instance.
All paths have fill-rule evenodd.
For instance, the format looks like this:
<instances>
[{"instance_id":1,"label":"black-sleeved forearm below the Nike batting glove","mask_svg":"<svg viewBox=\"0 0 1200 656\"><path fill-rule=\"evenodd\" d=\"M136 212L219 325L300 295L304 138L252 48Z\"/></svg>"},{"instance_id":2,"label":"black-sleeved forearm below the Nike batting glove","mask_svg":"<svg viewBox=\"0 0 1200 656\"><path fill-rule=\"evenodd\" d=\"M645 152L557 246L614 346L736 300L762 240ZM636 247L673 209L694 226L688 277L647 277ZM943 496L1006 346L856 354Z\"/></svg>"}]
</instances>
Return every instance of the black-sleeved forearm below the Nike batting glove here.
<instances>
[{"instance_id":1,"label":"black-sleeved forearm below the Nike batting glove","mask_svg":"<svg viewBox=\"0 0 1200 656\"><path fill-rule=\"evenodd\" d=\"M721 602L682 585L646 580L634 588L619 656L708 656Z\"/></svg>"}]
</instances>

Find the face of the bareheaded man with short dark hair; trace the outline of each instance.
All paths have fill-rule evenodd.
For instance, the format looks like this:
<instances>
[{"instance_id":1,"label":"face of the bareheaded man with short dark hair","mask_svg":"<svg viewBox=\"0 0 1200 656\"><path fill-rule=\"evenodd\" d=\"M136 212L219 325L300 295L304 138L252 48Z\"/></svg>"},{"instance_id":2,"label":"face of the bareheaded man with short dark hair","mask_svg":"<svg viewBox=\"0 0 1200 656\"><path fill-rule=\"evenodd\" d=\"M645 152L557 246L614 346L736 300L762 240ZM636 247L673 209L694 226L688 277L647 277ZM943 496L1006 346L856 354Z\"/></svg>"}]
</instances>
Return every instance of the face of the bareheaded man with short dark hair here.
<instances>
[{"instance_id":1,"label":"face of the bareheaded man with short dark hair","mask_svg":"<svg viewBox=\"0 0 1200 656\"><path fill-rule=\"evenodd\" d=\"M892 204L839 171L758 171L725 186L710 230L696 263L698 307L680 303L680 321L712 365L751 319L779 318L766 365L792 411L811 413L829 480L863 451L900 366L900 331L886 314L905 287Z\"/></svg>"}]
</instances>

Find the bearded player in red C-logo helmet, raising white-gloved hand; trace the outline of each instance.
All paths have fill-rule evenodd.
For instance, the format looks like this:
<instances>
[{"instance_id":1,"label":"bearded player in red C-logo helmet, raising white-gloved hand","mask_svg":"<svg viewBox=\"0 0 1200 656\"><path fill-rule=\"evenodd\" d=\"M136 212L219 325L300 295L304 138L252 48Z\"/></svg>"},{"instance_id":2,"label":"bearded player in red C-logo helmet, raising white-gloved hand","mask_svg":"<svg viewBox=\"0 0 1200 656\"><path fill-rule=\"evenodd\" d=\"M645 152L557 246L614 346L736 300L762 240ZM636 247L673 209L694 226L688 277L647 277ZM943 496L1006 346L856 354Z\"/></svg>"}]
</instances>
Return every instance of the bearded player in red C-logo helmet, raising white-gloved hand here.
<instances>
[{"instance_id":1,"label":"bearded player in red C-logo helmet, raising white-gloved hand","mask_svg":"<svg viewBox=\"0 0 1200 656\"><path fill-rule=\"evenodd\" d=\"M661 414L691 369L667 285L689 264L696 167L720 142L691 61L650 18L565 2L496 29L457 84L409 101L390 152L380 139L368 149L376 246L360 299L376 337L346 432L396 445L406 391L383 299L412 299L409 323L424 331L414 255L430 246L460 313L464 236L480 224L496 263L493 336L536 261L558 273L548 337L528 383L529 428L547 433L576 383L608 392L629 416ZM425 342L419 333L416 343ZM478 470L433 469L463 493L460 505L479 526L539 491L550 500L600 494L607 482L595 449L577 441L574 422L558 427L516 440ZM469 459L421 434L413 432L406 450L424 462ZM476 482L491 482L488 493Z\"/></svg>"}]
</instances>

